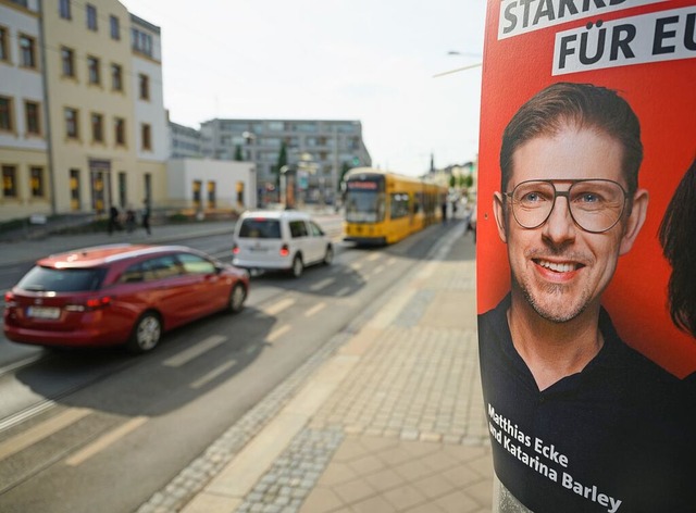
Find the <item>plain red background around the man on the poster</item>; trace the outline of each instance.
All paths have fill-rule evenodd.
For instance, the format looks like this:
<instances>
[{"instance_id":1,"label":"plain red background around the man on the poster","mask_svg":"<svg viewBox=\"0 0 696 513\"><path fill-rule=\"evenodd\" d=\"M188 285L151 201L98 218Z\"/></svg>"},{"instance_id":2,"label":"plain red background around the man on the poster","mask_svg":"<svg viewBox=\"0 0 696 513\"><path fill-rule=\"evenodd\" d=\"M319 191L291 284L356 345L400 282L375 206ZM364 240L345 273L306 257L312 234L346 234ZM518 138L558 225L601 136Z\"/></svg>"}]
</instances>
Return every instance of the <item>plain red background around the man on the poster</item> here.
<instances>
[{"instance_id":1,"label":"plain red background around the man on the poster","mask_svg":"<svg viewBox=\"0 0 696 513\"><path fill-rule=\"evenodd\" d=\"M638 186L649 191L650 202L636 243L619 260L604 304L626 343L679 377L696 371L696 339L680 331L670 318L667 284L671 267L657 237L667 204L696 158L696 59L551 75L558 32L598 18L619 20L693 4L693 0L668 1L624 9L498 40L500 1L489 0L478 154L478 313L495 308L510 288L507 248L493 216L493 193L500 190L500 141L507 123L527 99L552 83L606 86L629 101L641 122L644 161Z\"/></svg>"}]
</instances>

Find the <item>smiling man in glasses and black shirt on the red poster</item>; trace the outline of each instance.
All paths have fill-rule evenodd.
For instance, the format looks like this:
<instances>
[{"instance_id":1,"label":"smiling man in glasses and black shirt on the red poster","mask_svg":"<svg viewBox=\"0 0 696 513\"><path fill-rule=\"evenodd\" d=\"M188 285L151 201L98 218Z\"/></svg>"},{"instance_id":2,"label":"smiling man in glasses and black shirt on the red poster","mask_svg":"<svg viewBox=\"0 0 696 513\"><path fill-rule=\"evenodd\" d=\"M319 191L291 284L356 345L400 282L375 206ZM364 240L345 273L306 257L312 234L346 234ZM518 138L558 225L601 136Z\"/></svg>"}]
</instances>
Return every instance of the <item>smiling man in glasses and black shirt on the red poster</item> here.
<instances>
[{"instance_id":1,"label":"smiling man in glasses and black shirt on the red poster","mask_svg":"<svg viewBox=\"0 0 696 513\"><path fill-rule=\"evenodd\" d=\"M637 116L604 87L551 85L505 129L511 290L478 318L495 511L696 511L693 401L601 305L646 217L642 160Z\"/></svg>"}]
</instances>

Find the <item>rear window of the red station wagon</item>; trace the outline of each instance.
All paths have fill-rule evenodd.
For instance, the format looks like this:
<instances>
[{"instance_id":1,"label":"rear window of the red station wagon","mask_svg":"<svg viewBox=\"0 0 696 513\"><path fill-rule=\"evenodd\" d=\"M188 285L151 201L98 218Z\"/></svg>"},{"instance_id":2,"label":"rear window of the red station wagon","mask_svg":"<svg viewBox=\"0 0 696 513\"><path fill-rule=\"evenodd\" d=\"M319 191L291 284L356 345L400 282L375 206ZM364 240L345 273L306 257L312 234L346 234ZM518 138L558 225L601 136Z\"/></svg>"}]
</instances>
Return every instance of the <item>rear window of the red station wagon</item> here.
<instances>
[{"instance_id":1,"label":"rear window of the red station wagon","mask_svg":"<svg viewBox=\"0 0 696 513\"><path fill-rule=\"evenodd\" d=\"M33 267L17 284L23 290L37 292L82 292L99 289L105 268Z\"/></svg>"}]
</instances>

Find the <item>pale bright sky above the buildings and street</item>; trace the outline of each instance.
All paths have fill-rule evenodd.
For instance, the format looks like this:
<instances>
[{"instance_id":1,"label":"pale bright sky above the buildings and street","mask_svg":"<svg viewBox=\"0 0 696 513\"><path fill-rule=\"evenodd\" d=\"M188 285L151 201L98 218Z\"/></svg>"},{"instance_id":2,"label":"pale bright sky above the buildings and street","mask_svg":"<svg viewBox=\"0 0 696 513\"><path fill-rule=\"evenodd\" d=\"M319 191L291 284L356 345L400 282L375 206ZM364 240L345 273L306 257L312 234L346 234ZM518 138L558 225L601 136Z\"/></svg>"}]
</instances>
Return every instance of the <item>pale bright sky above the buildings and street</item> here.
<instances>
[{"instance_id":1,"label":"pale bright sky above the buildings and street","mask_svg":"<svg viewBox=\"0 0 696 513\"><path fill-rule=\"evenodd\" d=\"M375 167L476 159L485 0L121 0L161 28L164 108L358 120ZM452 54L451 52L457 52Z\"/></svg>"}]
</instances>

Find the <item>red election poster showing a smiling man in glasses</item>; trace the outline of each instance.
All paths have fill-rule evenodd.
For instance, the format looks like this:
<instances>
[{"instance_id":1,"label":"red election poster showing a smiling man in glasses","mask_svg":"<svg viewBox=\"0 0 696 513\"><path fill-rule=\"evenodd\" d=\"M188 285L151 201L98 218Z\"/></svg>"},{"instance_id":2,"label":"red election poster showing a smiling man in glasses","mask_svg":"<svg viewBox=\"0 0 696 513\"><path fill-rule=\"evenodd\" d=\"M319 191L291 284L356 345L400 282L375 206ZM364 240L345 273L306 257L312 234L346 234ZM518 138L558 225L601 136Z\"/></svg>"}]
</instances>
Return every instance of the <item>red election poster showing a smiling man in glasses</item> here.
<instances>
[{"instance_id":1,"label":"red election poster showing a smiling man in glasses","mask_svg":"<svg viewBox=\"0 0 696 513\"><path fill-rule=\"evenodd\" d=\"M694 511L694 0L489 0L478 159L496 511Z\"/></svg>"}]
</instances>

